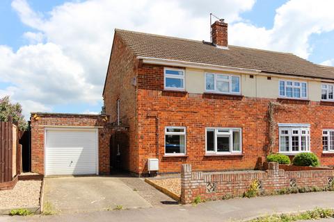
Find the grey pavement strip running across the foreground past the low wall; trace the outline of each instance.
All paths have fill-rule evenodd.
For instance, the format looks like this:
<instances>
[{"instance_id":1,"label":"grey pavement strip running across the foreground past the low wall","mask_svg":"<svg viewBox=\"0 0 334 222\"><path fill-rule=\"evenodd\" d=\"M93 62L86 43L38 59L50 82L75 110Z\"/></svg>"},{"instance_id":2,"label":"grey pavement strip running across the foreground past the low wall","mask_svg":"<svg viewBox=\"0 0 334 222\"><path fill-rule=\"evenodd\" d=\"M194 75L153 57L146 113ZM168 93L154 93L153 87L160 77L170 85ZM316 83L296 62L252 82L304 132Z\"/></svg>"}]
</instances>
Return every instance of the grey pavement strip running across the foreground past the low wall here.
<instances>
[{"instance_id":1,"label":"grey pavement strip running across the foreground past the low wall","mask_svg":"<svg viewBox=\"0 0 334 222\"><path fill-rule=\"evenodd\" d=\"M138 181L141 179L138 178ZM165 198L161 199L164 201ZM3 216L0 221L244 221L269 214L334 208L334 192L216 200L198 205L157 205L129 210L102 210L52 216ZM333 219L332 219L333 220ZM324 220L324 222L331 220Z\"/></svg>"}]
</instances>

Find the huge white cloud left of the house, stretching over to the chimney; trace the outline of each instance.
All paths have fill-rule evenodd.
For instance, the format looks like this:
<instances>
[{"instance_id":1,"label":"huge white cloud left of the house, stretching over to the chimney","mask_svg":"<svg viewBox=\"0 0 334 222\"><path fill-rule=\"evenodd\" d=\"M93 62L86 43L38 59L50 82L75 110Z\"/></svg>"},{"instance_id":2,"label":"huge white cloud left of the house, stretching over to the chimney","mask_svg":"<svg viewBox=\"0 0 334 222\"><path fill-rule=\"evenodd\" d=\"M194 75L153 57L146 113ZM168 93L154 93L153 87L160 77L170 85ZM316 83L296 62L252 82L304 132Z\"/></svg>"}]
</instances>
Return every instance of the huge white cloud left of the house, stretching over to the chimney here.
<instances>
[{"instance_id":1,"label":"huge white cloud left of the house, stretching over to the chimney","mask_svg":"<svg viewBox=\"0 0 334 222\"><path fill-rule=\"evenodd\" d=\"M67 103L94 104L102 99L114 28L209 40L209 12L236 22L254 3L90 0L41 13L26 0L14 0L13 9L33 31L22 33L29 45L17 51L0 45L0 81L11 85L0 94L22 103L25 114Z\"/></svg>"}]
</instances>

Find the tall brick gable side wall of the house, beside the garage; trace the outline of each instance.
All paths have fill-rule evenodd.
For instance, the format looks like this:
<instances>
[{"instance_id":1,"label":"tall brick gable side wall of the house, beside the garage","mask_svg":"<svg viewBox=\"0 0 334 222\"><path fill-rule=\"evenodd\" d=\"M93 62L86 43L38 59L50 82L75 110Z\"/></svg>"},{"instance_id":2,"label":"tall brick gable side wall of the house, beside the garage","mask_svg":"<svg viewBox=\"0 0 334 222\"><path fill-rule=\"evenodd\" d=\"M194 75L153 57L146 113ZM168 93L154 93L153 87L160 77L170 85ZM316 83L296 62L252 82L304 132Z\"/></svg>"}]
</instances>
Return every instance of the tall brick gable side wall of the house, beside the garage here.
<instances>
[{"instance_id":1,"label":"tall brick gable side wall of the house, beside the garage","mask_svg":"<svg viewBox=\"0 0 334 222\"><path fill-rule=\"evenodd\" d=\"M136 120L136 69L138 60L126 46L117 32L113 39L113 49L109 61L109 69L104 88L104 106L110 122L117 121L117 99L120 99L120 121L129 126L128 131L118 134L122 168L138 172L137 120ZM127 141L125 141L127 140ZM113 152L115 153L115 152Z\"/></svg>"}]
</instances>

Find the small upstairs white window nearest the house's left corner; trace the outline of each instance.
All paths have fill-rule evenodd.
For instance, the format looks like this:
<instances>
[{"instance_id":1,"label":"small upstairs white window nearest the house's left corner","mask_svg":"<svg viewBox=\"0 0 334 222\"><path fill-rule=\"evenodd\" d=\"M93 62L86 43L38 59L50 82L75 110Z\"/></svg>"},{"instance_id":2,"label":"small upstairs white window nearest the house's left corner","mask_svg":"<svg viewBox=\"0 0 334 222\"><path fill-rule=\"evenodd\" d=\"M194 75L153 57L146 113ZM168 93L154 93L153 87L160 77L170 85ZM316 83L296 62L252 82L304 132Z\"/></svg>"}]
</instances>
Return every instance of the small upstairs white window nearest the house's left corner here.
<instances>
[{"instance_id":1,"label":"small upstairs white window nearest the house's left corner","mask_svg":"<svg viewBox=\"0 0 334 222\"><path fill-rule=\"evenodd\" d=\"M164 88L184 91L184 69L164 68Z\"/></svg>"}]
</instances>

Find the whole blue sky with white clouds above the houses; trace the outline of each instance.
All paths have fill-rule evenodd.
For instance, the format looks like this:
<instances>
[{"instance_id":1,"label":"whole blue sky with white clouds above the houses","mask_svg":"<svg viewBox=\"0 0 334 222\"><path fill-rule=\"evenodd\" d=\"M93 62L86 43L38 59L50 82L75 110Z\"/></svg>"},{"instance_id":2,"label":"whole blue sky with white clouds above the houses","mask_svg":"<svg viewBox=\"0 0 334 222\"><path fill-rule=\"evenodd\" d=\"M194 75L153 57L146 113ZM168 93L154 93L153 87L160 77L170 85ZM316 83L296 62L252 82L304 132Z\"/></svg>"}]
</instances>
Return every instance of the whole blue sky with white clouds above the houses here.
<instances>
[{"instance_id":1,"label":"whole blue sky with white clouds above the houses","mask_svg":"<svg viewBox=\"0 0 334 222\"><path fill-rule=\"evenodd\" d=\"M0 96L29 112L100 112L114 28L208 40L209 13L229 43L334 65L333 1L0 1ZM173 13L172 13L173 12Z\"/></svg>"}]
</instances>

